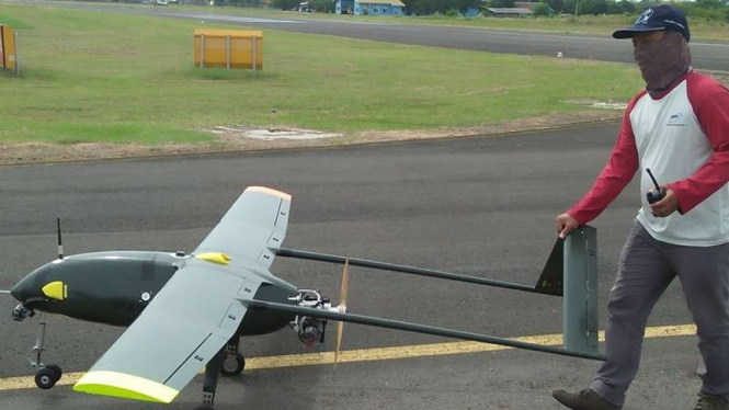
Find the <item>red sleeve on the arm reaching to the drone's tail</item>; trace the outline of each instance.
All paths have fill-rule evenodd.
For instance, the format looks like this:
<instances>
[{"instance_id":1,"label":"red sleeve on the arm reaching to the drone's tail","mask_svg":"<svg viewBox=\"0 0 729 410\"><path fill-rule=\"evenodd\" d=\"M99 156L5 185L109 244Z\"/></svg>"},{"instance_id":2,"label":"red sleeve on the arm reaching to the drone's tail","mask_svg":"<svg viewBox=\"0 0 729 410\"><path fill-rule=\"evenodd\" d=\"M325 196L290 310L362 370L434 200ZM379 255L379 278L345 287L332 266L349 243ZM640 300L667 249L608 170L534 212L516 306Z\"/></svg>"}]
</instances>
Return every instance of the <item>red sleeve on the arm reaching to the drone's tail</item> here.
<instances>
[{"instance_id":1,"label":"red sleeve on the arm reaching to the drone's tail","mask_svg":"<svg viewBox=\"0 0 729 410\"><path fill-rule=\"evenodd\" d=\"M630 113L638 103L638 100L645 94L646 91L642 91L630 100L623 116L620 132L607 164L600 172L592 189L590 189L577 205L567 212L581 225L591 221L602 214L607 205L630 183L630 180L633 180L638 170L638 149L636 148L636 138L630 126Z\"/></svg>"}]
</instances>

